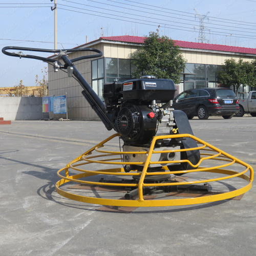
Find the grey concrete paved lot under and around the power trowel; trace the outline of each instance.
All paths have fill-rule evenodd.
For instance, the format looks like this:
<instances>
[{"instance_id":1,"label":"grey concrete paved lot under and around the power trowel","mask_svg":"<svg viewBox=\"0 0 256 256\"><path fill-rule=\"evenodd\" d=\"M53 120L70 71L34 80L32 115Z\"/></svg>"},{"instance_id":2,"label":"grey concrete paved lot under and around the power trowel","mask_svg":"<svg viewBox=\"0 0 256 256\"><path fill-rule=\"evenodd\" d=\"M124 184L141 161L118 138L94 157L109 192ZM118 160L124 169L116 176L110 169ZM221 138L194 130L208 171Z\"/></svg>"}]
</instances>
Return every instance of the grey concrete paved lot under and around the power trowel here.
<instances>
[{"instance_id":1,"label":"grey concrete paved lot under and around the power trowel","mask_svg":"<svg viewBox=\"0 0 256 256\"><path fill-rule=\"evenodd\" d=\"M195 136L256 169L256 118L190 120ZM1 255L255 255L255 185L242 200L101 212L55 192L56 172L113 134L101 122L0 126ZM255 182L254 182L255 183Z\"/></svg>"}]
</instances>

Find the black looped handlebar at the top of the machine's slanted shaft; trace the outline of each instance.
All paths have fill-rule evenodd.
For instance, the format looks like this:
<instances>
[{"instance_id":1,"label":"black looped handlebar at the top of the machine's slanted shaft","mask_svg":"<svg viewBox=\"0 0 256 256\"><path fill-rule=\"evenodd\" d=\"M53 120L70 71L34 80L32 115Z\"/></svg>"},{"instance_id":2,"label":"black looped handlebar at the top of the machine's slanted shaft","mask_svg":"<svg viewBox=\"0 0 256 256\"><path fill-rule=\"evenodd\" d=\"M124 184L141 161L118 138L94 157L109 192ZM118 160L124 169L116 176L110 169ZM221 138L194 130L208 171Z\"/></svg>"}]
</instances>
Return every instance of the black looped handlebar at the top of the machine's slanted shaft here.
<instances>
[{"instance_id":1,"label":"black looped handlebar at the top of the machine's slanted shaft","mask_svg":"<svg viewBox=\"0 0 256 256\"><path fill-rule=\"evenodd\" d=\"M8 52L7 50L19 50L20 52ZM62 49L62 50L49 50L49 49L39 49L39 48L28 48L28 47L15 47L15 46L6 46L2 49L2 52L5 55L19 57L19 58L29 58L29 59L38 59L46 62L56 62L55 59L52 58L45 58L36 55L28 55L24 54L22 51L30 51L30 52L49 52L49 53L61 53L61 52L96 52L98 54L88 55L88 56L81 56L78 58L71 59L71 62L75 62L82 59L89 59L89 58L98 58L102 56L102 52L100 50L94 48L84 48L84 49Z\"/></svg>"}]
</instances>

